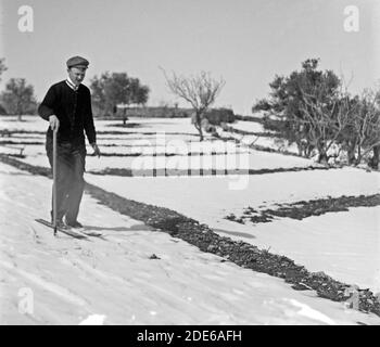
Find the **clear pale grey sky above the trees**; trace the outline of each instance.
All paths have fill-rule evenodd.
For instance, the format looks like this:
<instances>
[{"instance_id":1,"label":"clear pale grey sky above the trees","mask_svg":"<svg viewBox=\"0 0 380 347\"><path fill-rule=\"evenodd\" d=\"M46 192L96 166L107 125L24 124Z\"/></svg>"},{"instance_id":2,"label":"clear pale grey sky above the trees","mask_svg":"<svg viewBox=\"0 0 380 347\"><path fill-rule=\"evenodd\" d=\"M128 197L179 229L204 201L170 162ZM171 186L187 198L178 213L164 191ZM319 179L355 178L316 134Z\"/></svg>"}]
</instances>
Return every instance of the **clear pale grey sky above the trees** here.
<instances>
[{"instance_id":1,"label":"clear pale grey sky above the trees","mask_svg":"<svg viewBox=\"0 0 380 347\"><path fill-rule=\"evenodd\" d=\"M344 76L353 93L380 79L377 0L0 1L0 57L9 68L0 88L26 78L38 101L66 77L73 55L90 61L85 85L106 70L126 72L150 87L149 105L186 105L161 67L183 76L210 72L226 81L215 106L244 115L276 75L308 57ZM33 10L31 31L20 30L22 5ZM356 31L346 30L349 5L358 11Z\"/></svg>"}]
</instances>

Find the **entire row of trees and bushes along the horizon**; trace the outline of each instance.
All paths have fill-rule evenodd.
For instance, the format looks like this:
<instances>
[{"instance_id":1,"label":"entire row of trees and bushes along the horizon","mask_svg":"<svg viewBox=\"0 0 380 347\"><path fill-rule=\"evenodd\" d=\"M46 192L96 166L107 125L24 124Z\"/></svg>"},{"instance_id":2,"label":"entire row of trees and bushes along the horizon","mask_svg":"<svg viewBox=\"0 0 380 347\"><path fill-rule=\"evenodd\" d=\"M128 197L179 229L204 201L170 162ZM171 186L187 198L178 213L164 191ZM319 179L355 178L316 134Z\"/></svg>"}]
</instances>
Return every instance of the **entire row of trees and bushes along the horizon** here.
<instances>
[{"instance_id":1,"label":"entire row of trees and bushes along the horizon","mask_svg":"<svg viewBox=\"0 0 380 347\"><path fill-rule=\"evenodd\" d=\"M278 132L289 144L295 144L301 156L317 155L317 160L326 164L331 157L343 154L350 165L367 160L378 168L380 92L367 89L359 95L352 95L342 78L332 70L319 69L318 64L318 59L308 59L302 63L301 70L289 76L276 75L269 83L269 95L257 100L252 112L263 112L264 128ZM0 59L0 81L4 70L4 60ZM205 72L190 77L163 73L168 90L191 105L192 123L202 141L206 113L225 81ZM106 72L94 76L89 87L94 114L101 116L115 115L118 107L144 105L150 92L148 86L126 73ZM33 86L23 78L11 78L0 95L0 104L8 114L20 117L35 113L37 102Z\"/></svg>"}]
</instances>

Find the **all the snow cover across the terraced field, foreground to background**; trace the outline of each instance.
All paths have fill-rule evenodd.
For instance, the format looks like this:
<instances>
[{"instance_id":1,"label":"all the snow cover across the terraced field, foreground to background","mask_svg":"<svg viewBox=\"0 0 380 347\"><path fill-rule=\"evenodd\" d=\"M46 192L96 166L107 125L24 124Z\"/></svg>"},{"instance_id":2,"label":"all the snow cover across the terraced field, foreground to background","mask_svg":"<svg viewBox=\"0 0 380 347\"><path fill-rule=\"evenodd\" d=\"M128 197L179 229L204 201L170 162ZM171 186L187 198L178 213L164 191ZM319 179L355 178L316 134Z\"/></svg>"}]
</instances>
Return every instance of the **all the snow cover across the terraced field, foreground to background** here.
<instances>
[{"instance_id":1,"label":"all the snow cover across the terraced field, foreground to background","mask_svg":"<svg viewBox=\"0 0 380 347\"><path fill-rule=\"evenodd\" d=\"M47 123L38 117L25 119L18 123L0 118L0 129L47 129ZM244 143L254 139L242 139L236 133L224 133L224 137L233 136L241 140L241 145L233 142L226 145L224 141L207 137L202 147L190 119L130 118L128 123L138 126L122 128L115 126L122 121L96 120L100 132L126 132L99 133L100 149L107 154L142 153L143 156L88 156L87 171L162 167L206 169L210 165L233 168L237 156L241 156L243 168L250 169L318 166L301 157L248 149ZM143 133L163 134L164 131L164 140ZM0 138L0 141L9 140L40 144L0 145L0 153L16 154L17 147L23 147L26 157L21 160L49 167L43 133ZM255 144L277 145L274 139L264 137ZM295 151L294 147L286 150ZM205 155L197 154L200 151ZM92 150L88 147L88 152ZM178 155L152 155L165 152ZM188 152L195 155L189 157ZM212 156L211 152L218 154ZM203 162L199 162L201 158ZM109 242L91 240L83 244L63 236L55 240L45 227L30 224L34 218L48 218L51 182L7 165L0 166L0 227L4 230L0 242L0 312L7 312L7 317L0 316L0 323L76 324L90 314L103 314L105 323L117 324L340 324L356 321L380 324L378 317L345 310L343 304L316 298L309 292L294 292L281 280L221 264L218 257L203 254L182 241L145 230L138 221L96 204L89 196L84 198L80 221L102 230ZM309 271L325 271L339 281L380 292L379 206L350 208L301 221L277 218L269 223L240 224L225 219L230 214L241 215L248 207L265 209L328 196L378 194L380 172L355 168L214 177L118 177L88 172L85 179L126 198L174 209L208 224L223 236L270 248L271 253L288 256ZM27 243L21 242L24 239ZM161 260L149 259L151 254L156 254ZM75 281L76 278L79 281ZM30 286L41 310L33 318L21 317L17 291ZM86 298L89 286L92 296ZM139 294L141 291L143 295ZM159 298L154 296L155 291ZM56 305L58 311L53 311L52 305ZM246 310L246 305L255 309ZM301 312L314 313L305 317Z\"/></svg>"}]
</instances>

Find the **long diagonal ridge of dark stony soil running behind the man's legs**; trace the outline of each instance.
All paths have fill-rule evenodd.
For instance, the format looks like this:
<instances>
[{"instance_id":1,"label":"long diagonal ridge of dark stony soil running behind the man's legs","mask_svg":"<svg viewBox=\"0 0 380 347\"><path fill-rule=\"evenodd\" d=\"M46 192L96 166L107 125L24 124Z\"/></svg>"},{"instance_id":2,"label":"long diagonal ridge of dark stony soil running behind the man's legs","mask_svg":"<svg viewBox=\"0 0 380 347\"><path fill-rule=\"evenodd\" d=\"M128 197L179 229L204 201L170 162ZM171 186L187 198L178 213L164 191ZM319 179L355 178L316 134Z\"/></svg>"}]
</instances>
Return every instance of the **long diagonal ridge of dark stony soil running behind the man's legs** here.
<instances>
[{"instance_id":1,"label":"long diagonal ridge of dark stony soil running behind the man's legs","mask_svg":"<svg viewBox=\"0 0 380 347\"><path fill-rule=\"evenodd\" d=\"M3 154L0 154L0 160L34 175L50 175L49 169L34 167ZM286 282L292 284L294 290L314 290L320 297L334 301L345 301L350 297L346 294L350 285L335 281L324 272L309 272L288 257L258 249L252 244L219 236L206 224L201 224L175 210L128 200L89 183L86 184L86 192L97 198L100 204L119 214L167 232L174 237L197 246L202 252L223 257L220 261L229 260L240 267L284 279ZM373 293L358 288L357 294L359 310L373 312L380 317L380 301Z\"/></svg>"}]
</instances>

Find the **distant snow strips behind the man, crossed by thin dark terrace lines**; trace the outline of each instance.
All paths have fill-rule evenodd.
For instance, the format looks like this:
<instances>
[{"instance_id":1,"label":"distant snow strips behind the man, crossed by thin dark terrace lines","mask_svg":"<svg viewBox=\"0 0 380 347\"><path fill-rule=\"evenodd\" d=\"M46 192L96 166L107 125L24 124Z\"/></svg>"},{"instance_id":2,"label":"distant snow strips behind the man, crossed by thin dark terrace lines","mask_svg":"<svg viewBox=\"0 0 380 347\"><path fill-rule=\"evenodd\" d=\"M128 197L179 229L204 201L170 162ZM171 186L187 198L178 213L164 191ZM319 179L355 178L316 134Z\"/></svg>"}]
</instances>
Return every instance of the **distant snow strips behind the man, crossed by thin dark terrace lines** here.
<instances>
[{"instance_id":1,"label":"distant snow strips behind the man, crossed by thin dark terrace lines","mask_svg":"<svg viewBox=\"0 0 380 347\"><path fill-rule=\"evenodd\" d=\"M0 119L0 126L9 131L43 131L47 121L38 117L28 117L26 121L17 123L10 119ZM87 170L102 170L105 168L124 169L277 169L307 167L313 162L301 157L283 156L277 153L264 153L238 145L233 142L211 139L206 137L204 142L198 141L197 130L190 124L189 118L179 119L139 119L128 120L138 124L136 128L121 128L122 121L96 121L98 144L104 154L136 154L141 157L104 156L101 160L96 157L87 157ZM102 131L118 131L121 133L101 133ZM134 132L134 133L128 133ZM144 132L149 132L148 134ZM156 132L156 133L152 133ZM188 136L186 134L188 133ZM0 145L0 153L18 154L23 149L26 157L24 162L31 165L49 167L45 151L43 133L15 133L12 137L2 137L0 140L18 142L20 144ZM39 142L40 144L22 144L22 142ZM87 147L91 153L90 146ZM176 156L153 157L153 153L178 154ZM188 153L202 153L187 156ZM212 153L219 155L212 156ZM227 154L226 154L227 153Z\"/></svg>"}]
</instances>

